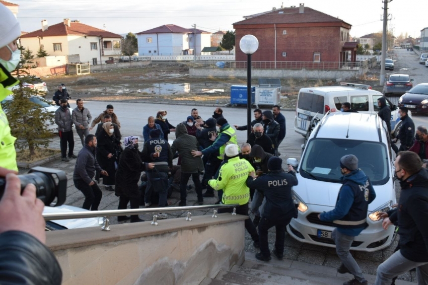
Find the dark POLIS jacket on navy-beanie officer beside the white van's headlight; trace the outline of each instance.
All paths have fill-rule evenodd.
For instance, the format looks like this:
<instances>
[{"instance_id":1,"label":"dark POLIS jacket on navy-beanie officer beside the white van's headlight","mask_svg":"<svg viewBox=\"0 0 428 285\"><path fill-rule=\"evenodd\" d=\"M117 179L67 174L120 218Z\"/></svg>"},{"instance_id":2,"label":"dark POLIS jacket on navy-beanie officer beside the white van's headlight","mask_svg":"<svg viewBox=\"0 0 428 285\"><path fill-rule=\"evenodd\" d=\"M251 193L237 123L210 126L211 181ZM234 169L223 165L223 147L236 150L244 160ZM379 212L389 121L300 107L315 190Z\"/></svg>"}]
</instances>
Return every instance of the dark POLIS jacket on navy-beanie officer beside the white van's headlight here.
<instances>
[{"instance_id":1,"label":"dark POLIS jacket on navy-beanie officer beside the white van's headlight","mask_svg":"<svg viewBox=\"0 0 428 285\"><path fill-rule=\"evenodd\" d=\"M253 180L247 178L247 186L264 193L266 204L261 216L267 220L297 218L297 208L292 197L292 187L298 181L294 172L270 171Z\"/></svg>"}]
</instances>

